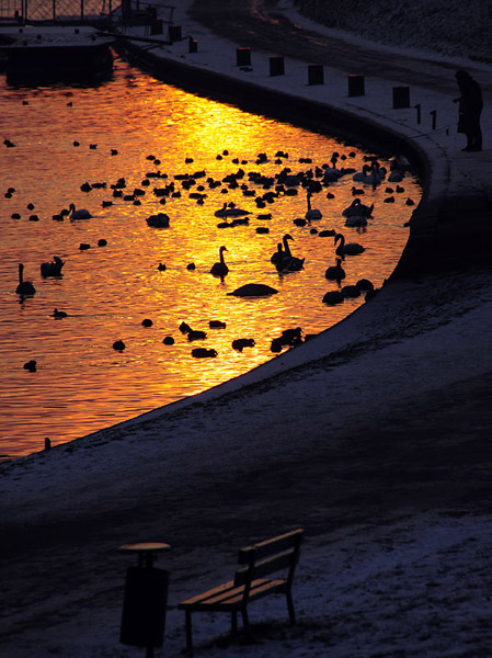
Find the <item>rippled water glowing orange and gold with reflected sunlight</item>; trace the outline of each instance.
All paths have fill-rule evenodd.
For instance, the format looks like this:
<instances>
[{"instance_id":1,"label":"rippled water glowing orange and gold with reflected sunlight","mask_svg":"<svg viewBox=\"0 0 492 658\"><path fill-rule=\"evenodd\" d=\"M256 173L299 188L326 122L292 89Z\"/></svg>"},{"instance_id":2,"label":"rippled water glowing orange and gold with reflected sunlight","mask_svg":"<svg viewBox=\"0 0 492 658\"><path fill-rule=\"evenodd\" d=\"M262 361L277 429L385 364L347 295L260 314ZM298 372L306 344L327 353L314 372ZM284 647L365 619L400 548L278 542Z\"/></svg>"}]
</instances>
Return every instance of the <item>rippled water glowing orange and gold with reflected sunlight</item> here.
<instances>
[{"instance_id":1,"label":"rippled water glowing orange and gold with reflected sunlight","mask_svg":"<svg viewBox=\"0 0 492 658\"><path fill-rule=\"evenodd\" d=\"M385 184L365 186L362 198L376 209L359 232L345 227L341 214L353 200L351 175L330 186L334 198L327 198L325 189L313 196L323 217L310 227L293 223L307 209L301 189L297 196L281 195L258 209L249 194L265 190L250 180L250 172L314 170L329 163L334 151L346 156L339 167L358 170L367 154L168 87L122 61L115 64L114 79L98 88L14 89L0 77L0 112L2 140L15 144L0 144L2 455L25 455L41 450L45 436L53 444L66 442L196 394L272 359L271 341L284 329L300 326L305 333L317 333L337 322L363 298L339 306L322 303L324 293L336 288L324 277L334 263L334 245L332 237L310 229L336 228L347 241L363 243L366 251L344 262L344 283L367 277L379 286L408 239L403 225L412 207L405 200L417 203L421 194L412 177L401 183L404 192L394 194L392 204L382 203ZM282 163L275 162L277 151L288 154ZM259 154L266 154L267 161L258 162ZM312 162L299 161L306 158ZM244 178L232 189L224 179L240 168ZM185 189L179 177L197 171L205 175ZM162 178L147 175L156 172ZM119 178L126 181L125 194L141 190L135 197L140 205L113 196L111 185ZM220 184L210 186L207 179ZM83 192L87 182L91 190ZM165 197L162 205L153 190L171 183L181 195ZM9 188L15 190L11 197ZM206 195L202 205L191 196L197 192ZM103 201L113 205L103 207ZM248 226L217 227L214 213L225 201L251 211ZM53 219L70 203L93 217ZM147 225L146 218L158 212L169 215L169 228ZM15 213L21 217L13 218ZM256 232L260 226L270 232ZM294 237L293 252L306 262L304 270L281 276L270 258L286 232ZM107 245L98 246L101 239ZM80 249L81 243L90 248ZM209 273L222 245L229 266L224 282ZM54 256L66 262L62 277L44 279L41 263ZM21 262L36 287L25 299L15 293ZM187 269L192 262L194 271ZM279 293L256 299L227 295L249 282ZM55 308L68 317L54 318ZM144 327L145 318L153 325ZM210 319L227 327L209 329ZM188 342L179 330L182 321L207 338ZM175 343L163 344L167 336ZM237 338L253 338L255 345L238 352L231 347ZM123 352L113 350L116 340L125 342ZM218 355L194 359L196 347L214 348ZM33 359L37 371L24 370Z\"/></svg>"}]
</instances>

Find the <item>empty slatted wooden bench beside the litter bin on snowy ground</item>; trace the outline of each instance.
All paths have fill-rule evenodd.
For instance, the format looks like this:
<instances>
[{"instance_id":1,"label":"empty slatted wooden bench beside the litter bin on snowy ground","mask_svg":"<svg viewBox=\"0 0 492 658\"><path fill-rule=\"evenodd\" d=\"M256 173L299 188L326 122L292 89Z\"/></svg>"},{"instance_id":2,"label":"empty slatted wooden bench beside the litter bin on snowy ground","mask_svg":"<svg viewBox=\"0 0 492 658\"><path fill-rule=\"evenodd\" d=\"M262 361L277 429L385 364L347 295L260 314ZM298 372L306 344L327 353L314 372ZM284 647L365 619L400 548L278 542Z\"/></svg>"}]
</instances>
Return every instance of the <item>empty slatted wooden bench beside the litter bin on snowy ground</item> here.
<instances>
[{"instance_id":1,"label":"empty slatted wooden bench beside the litter bin on snowy ground","mask_svg":"<svg viewBox=\"0 0 492 658\"><path fill-rule=\"evenodd\" d=\"M296 623L291 587L302 534L304 530L297 529L241 548L238 555L239 568L233 580L178 605L179 610L185 612L188 651L193 650L193 612L230 612L232 633L238 632L238 612L241 612L244 631L249 633L248 604L267 594L285 593L290 623ZM265 578L278 571L283 572L283 578Z\"/></svg>"}]
</instances>

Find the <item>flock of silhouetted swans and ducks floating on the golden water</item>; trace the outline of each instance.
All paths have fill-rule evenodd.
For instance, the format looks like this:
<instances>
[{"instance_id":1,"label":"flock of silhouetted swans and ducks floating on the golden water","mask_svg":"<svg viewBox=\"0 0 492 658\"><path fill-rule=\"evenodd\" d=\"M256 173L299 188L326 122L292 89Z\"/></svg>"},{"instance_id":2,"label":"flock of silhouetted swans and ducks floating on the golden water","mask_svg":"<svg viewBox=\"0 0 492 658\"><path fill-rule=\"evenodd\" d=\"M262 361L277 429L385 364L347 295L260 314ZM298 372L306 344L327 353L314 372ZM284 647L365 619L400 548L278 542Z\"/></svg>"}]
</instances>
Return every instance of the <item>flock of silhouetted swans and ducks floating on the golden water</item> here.
<instances>
[{"instance_id":1,"label":"flock of silhouetted swans and ducks floating on the golden water","mask_svg":"<svg viewBox=\"0 0 492 658\"><path fill-rule=\"evenodd\" d=\"M112 149L111 155L116 155L117 151ZM222 151L221 155L217 156L217 159L221 159L228 155L228 151ZM126 188L126 181L124 178L119 178L115 183L111 184L111 189L113 190L113 198L121 198L123 201L133 202L135 205L139 205L141 203L141 196L146 194L146 191L150 188L151 180L158 180L159 183L156 188L153 188L152 193L157 198L157 203L164 205L169 202L170 198L180 197L182 193L187 192L191 198L194 198L198 205L204 205L205 200L207 197L207 186L209 190L221 186L222 193L228 193L229 190L240 189L244 197L249 197L256 206L256 211L261 211L267 205L273 204L278 197L284 196L297 196L300 192L306 195L306 204L307 209L304 217L296 217L293 219L293 224L297 227L308 227L311 235L319 237L333 237L334 240L334 253L335 263L330 264L324 272L324 277L330 282L336 282L339 290L329 291L322 302L324 304L339 304L343 302L345 298L356 297L361 294L366 294L366 298L374 293L374 285L368 280L359 280L355 285L343 286L341 287L341 282L345 279L346 274L342 266L342 262L346 257L354 257L361 254L365 251L365 247L355 241L347 241L345 236L340 232L340 230L335 229L323 229L318 230L314 227L314 223L322 218L322 213L319 208L313 207L313 197L316 194L323 192L325 193L327 198L334 198L334 194L331 191L327 192L327 189L334 182L337 182L342 177L352 177L354 182L359 182L363 185L370 185L371 188L376 188L380 185L384 181L386 182L401 182L404 178L405 172L408 171L408 162L400 159L393 158L391 160L390 171L388 172L384 167L379 164L379 161L376 158L369 158L368 161L363 166L361 171L355 170L350 167L339 168L339 161L346 160L347 158L353 158L355 154L348 154L348 156L340 155L337 152L333 154L329 164L323 164L322 167L310 168L308 170L302 170L300 172L293 172L290 167L285 166L285 159L288 158L288 154L283 151L278 151L275 155L275 163L283 164L283 169L275 175L265 175L259 172L258 170L251 171L249 173L240 167L236 172L226 175L222 180L215 180L211 177L206 178L206 172L204 170L186 173L186 174L178 174L174 175L174 180L168 181L168 174L162 173L159 169L147 172L146 178L141 183L141 188L135 188L133 192L125 194L124 190ZM152 161L156 167L159 167L160 161L155 156L148 156L147 159ZM239 160L234 158L232 160L236 164L244 164L245 160ZM268 158L266 154L259 154L256 157L255 163L262 164L267 162ZM186 163L193 162L192 158L186 159ZM299 160L300 162L300 160ZM309 158L302 159L304 163L311 163ZM201 179L204 179L201 181ZM245 181L249 181L248 184ZM162 184L162 181L165 181L165 184ZM242 182L241 182L242 181ZM181 190L178 189L178 184L181 183ZM105 189L106 183L89 183L85 182L81 185L81 190L83 192L90 192L92 189L103 188ZM397 193L403 192L403 188L399 188ZM9 189L8 197L12 197L14 190ZM386 189L387 193L392 193L394 190L392 188ZM355 196L353 202L344 208L342 215L345 220L345 226L348 228L352 227L364 227L367 225L368 220L373 218L373 214L375 212L375 205L371 203L370 205L365 205L362 203L359 196L364 194L364 189L357 189L355 186L352 188L352 194ZM407 204L413 204L412 200L408 198ZM34 204L30 204L34 207ZM102 207L107 208L113 205L113 201L104 200L102 201ZM238 207L232 202L224 202L222 206L214 212L214 216L221 219L219 224L217 224L217 228L225 229L231 228L239 225L248 225L250 222L250 217L252 216L252 211L244 209ZM64 219L64 217L68 217L72 220L76 219L90 219L94 215L85 209L85 208L77 208L75 203L70 203L68 211L64 209L57 215L54 215L54 219ZM13 214L13 218L20 218L19 214ZM259 213L256 215L259 219L271 219L272 213ZM158 212L149 217L147 217L146 223L149 227L152 228L170 228L171 227L171 218L170 215ZM258 230L263 228L262 231ZM268 232L267 227L258 227L256 232ZM270 261L276 269L279 275L287 275L291 272L299 272L306 266L306 258L301 258L293 254L290 250L289 242L294 240L293 236L289 232L285 232L282 237L282 240L277 243L277 249L274 253L271 254ZM105 240L100 240L99 245L105 245ZM81 243L80 249L88 249L90 245ZM210 269L209 273L214 276L219 277L222 282L225 277L229 274L229 266L225 260L225 252L228 249L226 246L220 246L219 248L219 260L215 262ZM61 260L60 257L55 256L53 261L43 262L41 264L41 274L43 277L47 276L61 276L62 268L65 265L65 261ZM164 272L167 270L165 263L160 262L157 266L159 271ZM188 263L186 265L187 270L194 270L195 263ZM19 265L19 285L16 287L16 293L22 297L28 297L35 294L36 290L33 283L25 281L23 277L24 274L24 265L21 263ZM248 283L232 292L227 294L236 295L238 297L259 297L259 296L270 296L276 294L278 291L270 285L263 283ZM55 308L53 317L56 319L61 319L68 317L62 310ZM213 325L211 322L215 322ZM151 327L152 321L150 319L144 320L142 322L146 327ZM224 328L226 324L221 320L210 320L210 328ZM190 342L194 340L204 340L207 338L207 333L201 330L193 330L188 325L183 322L180 326L180 330L182 333L187 336L187 340ZM305 337L306 339L307 337ZM174 339L170 336L165 337L162 341L164 344L173 344ZM296 328L293 330L286 330L281 337L272 339L272 351L277 352L281 351L284 347L295 347L302 342L302 332L300 328ZM232 341L232 349L242 352L244 348L254 347L255 341L253 338L240 338L234 339ZM113 348L117 351L123 351L125 349L125 343L122 340L117 340L113 343ZM215 349L194 349L192 351L192 355L195 358L213 358L217 355L217 351ZM30 370L30 368L26 368ZM35 368L34 368L35 370Z\"/></svg>"}]
</instances>

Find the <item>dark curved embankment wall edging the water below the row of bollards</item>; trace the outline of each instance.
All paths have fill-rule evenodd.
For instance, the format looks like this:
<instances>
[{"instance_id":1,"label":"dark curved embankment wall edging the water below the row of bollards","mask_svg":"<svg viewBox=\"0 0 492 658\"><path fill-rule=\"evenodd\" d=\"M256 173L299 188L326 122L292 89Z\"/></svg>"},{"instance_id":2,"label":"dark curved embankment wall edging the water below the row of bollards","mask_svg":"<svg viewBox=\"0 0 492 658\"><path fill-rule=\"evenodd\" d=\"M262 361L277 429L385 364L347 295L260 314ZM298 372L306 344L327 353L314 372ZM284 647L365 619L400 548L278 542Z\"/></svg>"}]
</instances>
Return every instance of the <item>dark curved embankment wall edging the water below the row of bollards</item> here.
<instances>
[{"instance_id":1,"label":"dark curved embankment wall edging the water below the row of bollards","mask_svg":"<svg viewBox=\"0 0 492 658\"><path fill-rule=\"evenodd\" d=\"M421 178L423 196L410 222L408 245L390 279L436 274L469 265L490 266L488 242L492 238L492 223L488 220L492 185L485 188L483 174L474 168L473 175L479 173L482 191L478 192L473 185L456 193L451 186L453 164L432 135L417 134L417 138L412 138L415 135L411 133L415 131L410 134L398 131L364 112L302 99L265 83L238 80L217 70L142 50L138 44L128 44L127 48L135 61L149 68L156 77L187 91L352 143L359 141L388 156L407 157ZM468 229L474 224L472 235L469 230L464 234L459 226L464 207L472 212L467 222Z\"/></svg>"}]
</instances>

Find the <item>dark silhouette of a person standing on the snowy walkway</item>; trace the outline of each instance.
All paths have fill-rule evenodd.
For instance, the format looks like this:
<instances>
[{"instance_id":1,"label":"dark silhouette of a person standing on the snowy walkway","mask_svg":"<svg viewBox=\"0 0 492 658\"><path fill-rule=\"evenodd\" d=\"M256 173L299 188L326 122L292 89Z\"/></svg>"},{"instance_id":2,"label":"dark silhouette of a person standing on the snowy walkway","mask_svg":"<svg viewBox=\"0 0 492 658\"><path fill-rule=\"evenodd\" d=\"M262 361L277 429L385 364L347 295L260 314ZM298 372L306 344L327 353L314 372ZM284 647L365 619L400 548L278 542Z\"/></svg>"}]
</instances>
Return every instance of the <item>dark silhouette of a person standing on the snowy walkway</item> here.
<instances>
[{"instance_id":1,"label":"dark silhouette of a person standing on the snowy walkway","mask_svg":"<svg viewBox=\"0 0 492 658\"><path fill-rule=\"evenodd\" d=\"M459 103L458 133L465 133L467 146L461 150L482 150L482 131L480 128L480 114L483 107L482 90L477 80L467 71L456 71L456 81L461 95L454 99Z\"/></svg>"}]
</instances>

